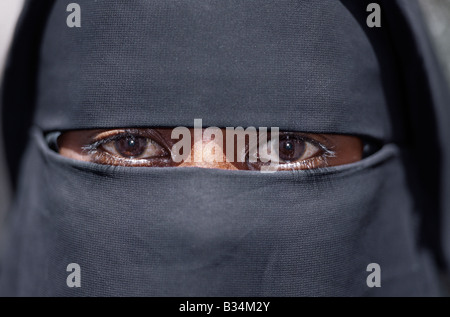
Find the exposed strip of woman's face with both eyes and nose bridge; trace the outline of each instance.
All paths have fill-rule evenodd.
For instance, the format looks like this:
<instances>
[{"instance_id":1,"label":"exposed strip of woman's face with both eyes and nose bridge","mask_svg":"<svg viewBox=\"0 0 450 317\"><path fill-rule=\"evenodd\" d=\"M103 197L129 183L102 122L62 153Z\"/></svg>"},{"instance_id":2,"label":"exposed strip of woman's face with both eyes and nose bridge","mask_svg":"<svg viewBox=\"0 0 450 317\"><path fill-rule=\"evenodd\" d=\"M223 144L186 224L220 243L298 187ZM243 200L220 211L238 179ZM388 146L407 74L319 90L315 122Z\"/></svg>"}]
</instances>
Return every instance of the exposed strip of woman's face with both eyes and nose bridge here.
<instances>
[{"instance_id":1,"label":"exposed strip of woman's face with both eyes and nose bridge","mask_svg":"<svg viewBox=\"0 0 450 317\"><path fill-rule=\"evenodd\" d=\"M261 134L237 138L228 137L225 129L215 133L202 131L196 137L189 129L190 154L184 159L174 159L174 145L181 136L174 136L170 128L133 128L112 130L74 130L58 138L60 154L69 158L104 165L136 167L202 167L225 170L259 170L264 162L274 161L270 134L264 142ZM186 140L185 140L186 141ZM280 132L278 139L278 170L315 169L348 164L361 160L363 144L360 138L348 135ZM229 144L232 144L232 154ZM273 143L273 144L272 144ZM256 146L256 145L259 146ZM263 144L263 145L261 145ZM251 160L254 150L255 159ZM185 153L181 153L185 154ZM228 156L227 156L228 154ZM198 159L200 158L200 159Z\"/></svg>"}]
</instances>

